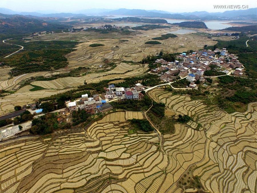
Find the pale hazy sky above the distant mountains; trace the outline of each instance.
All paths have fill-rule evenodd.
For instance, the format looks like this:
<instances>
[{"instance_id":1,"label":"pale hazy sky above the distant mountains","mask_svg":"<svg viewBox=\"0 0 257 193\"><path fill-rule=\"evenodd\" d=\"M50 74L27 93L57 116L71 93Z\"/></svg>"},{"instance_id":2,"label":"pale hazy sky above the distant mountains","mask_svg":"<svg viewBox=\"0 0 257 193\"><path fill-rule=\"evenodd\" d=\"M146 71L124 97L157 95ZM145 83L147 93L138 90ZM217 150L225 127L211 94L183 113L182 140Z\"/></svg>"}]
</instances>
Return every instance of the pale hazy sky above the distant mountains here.
<instances>
[{"instance_id":1,"label":"pale hazy sky above the distant mountains","mask_svg":"<svg viewBox=\"0 0 257 193\"><path fill-rule=\"evenodd\" d=\"M248 5L248 8L257 7L256 0L1 0L0 7L14 11L55 10L57 12L74 12L81 9L156 9L170 12L208 11L223 12L233 9L214 9L213 5Z\"/></svg>"}]
</instances>

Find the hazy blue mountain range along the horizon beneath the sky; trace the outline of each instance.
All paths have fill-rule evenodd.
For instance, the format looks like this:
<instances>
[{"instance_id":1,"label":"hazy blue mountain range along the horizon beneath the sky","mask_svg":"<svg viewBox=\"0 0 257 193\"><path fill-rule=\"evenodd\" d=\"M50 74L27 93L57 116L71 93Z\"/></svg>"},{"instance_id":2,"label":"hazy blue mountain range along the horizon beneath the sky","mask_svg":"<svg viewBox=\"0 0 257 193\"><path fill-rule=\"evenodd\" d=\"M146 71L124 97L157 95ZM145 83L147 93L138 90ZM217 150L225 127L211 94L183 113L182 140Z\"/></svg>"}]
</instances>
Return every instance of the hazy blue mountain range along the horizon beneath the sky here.
<instances>
[{"instance_id":1,"label":"hazy blue mountain range along the horizon beneath the sky","mask_svg":"<svg viewBox=\"0 0 257 193\"><path fill-rule=\"evenodd\" d=\"M257 20L257 8L244 10L231 10L224 12L209 13L207 11L194 11L184 13L172 13L161 10L144 10L144 9L83 9L74 13L43 13L39 12L17 12L11 9L1 7L1 14L19 14L32 15L36 17L85 17L87 15L128 15L140 17L158 17L170 19L193 19L193 20L211 20L211 19L229 19L229 18L251 18Z\"/></svg>"}]
</instances>

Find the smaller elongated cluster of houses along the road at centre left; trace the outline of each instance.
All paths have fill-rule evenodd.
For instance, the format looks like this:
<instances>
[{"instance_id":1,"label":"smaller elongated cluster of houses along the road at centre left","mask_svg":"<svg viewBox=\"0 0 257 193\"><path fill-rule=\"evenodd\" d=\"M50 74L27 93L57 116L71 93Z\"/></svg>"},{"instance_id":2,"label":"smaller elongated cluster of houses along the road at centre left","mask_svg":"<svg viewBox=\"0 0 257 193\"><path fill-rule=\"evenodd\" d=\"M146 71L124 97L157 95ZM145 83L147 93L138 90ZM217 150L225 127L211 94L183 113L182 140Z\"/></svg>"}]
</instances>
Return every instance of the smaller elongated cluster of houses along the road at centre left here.
<instances>
[{"instance_id":1,"label":"smaller elongated cluster of houses along the road at centre left","mask_svg":"<svg viewBox=\"0 0 257 193\"><path fill-rule=\"evenodd\" d=\"M144 90L144 86L137 83L133 88L115 87L114 84L110 84L108 88L104 87L105 93L94 94L89 97L88 94L81 95L76 101L65 101L65 104L69 112L85 110L87 113L95 114L97 112L106 112L112 109L109 101L113 99L117 100L137 100L144 97L141 91Z\"/></svg>"}]
</instances>

